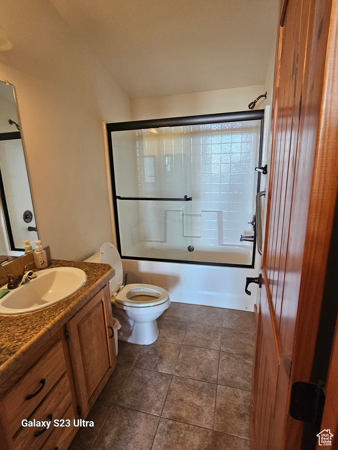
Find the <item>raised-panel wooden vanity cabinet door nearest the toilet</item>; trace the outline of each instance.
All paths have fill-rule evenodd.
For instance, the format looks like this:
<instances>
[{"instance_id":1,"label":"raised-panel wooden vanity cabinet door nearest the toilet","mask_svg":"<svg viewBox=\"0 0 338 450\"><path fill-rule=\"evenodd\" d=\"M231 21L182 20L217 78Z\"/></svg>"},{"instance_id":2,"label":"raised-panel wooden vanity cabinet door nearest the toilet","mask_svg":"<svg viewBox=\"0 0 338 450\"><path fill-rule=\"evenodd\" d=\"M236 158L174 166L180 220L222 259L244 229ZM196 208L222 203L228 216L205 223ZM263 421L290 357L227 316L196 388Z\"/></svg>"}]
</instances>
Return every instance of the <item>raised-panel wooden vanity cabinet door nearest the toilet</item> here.
<instances>
[{"instance_id":1,"label":"raised-panel wooden vanity cabinet door nearest the toilet","mask_svg":"<svg viewBox=\"0 0 338 450\"><path fill-rule=\"evenodd\" d=\"M116 365L110 292L106 285L74 317L66 328L74 381L85 418Z\"/></svg>"}]
</instances>

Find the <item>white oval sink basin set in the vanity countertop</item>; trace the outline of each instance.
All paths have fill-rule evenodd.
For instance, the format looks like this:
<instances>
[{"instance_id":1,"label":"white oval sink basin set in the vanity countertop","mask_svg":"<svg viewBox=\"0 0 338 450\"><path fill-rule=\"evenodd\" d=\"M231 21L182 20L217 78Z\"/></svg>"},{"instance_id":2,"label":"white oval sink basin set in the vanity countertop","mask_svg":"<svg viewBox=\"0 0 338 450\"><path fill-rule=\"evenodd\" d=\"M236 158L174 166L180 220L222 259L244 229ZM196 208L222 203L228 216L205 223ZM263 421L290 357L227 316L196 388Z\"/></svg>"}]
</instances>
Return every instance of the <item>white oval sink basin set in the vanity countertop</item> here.
<instances>
[{"instance_id":1,"label":"white oval sink basin set in the vanity countertop","mask_svg":"<svg viewBox=\"0 0 338 450\"><path fill-rule=\"evenodd\" d=\"M26 314L41 310L70 297L82 288L86 280L85 272L76 267L41 270L37 272L37 278L11 290L0 299L0 314Z\"/></svg>"}]
</instances>

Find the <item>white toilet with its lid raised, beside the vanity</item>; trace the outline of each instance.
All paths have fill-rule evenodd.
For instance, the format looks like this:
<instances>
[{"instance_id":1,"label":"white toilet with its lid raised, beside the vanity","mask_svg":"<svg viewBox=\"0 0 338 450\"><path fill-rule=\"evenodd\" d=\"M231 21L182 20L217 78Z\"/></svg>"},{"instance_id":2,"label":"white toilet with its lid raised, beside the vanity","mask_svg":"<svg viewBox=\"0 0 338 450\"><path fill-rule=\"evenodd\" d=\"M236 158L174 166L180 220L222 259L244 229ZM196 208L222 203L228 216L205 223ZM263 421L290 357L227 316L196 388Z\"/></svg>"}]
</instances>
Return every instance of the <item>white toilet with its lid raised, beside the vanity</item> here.
<instances>
[{"instance_id":1,"label":"white toilet with its lid raised, beside the vanity","mask_svg":"<svg viewBox=\"0 0 338 450\"><path fill-rule=\"evenodd\" d=\"M159 335L156 319L169 308L169 293L152 284L127 284L123 287L123 269L119 252L114 245L106 242L99 253L86 259L86 262L110 264L115 276L110 280L110 295L113 317L119 320L120 341L149 345Z\"/></svg>"}]
</instances>

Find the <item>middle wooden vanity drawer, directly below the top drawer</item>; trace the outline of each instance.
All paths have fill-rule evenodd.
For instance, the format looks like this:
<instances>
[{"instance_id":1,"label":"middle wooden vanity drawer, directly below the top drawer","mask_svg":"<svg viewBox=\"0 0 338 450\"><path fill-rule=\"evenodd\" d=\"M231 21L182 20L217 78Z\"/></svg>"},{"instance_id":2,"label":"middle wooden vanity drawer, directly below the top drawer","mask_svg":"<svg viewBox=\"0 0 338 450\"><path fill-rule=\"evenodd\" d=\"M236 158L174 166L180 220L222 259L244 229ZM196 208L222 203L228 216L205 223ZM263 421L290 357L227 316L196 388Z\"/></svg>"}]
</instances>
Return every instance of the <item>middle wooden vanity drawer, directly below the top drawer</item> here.
<instances>
[{"instance_id":1,"label":"middle wooden vanity drawer, directly below the top drawer","mask_svg":"<svg viewBox=\"0 0 338 450\"><path fill-rule=\"evenodd\" d=\"M60 419L72 402L69 381L67 374L64 374L48 393L44 401L36 411L27 418L28 421L50 421L50 426L46 428L20 427L13 437L15 450L38 450L46 441L50 433L57 429L54 427L54 419ZM48 418L52 414L52 417ZM72 424L73 425L73 424ZM41 432L35 436L36 432ZM64 428L62 428L64 429ZM53 449L54 450L54 449Z\"/></svg>"}]
</instances>

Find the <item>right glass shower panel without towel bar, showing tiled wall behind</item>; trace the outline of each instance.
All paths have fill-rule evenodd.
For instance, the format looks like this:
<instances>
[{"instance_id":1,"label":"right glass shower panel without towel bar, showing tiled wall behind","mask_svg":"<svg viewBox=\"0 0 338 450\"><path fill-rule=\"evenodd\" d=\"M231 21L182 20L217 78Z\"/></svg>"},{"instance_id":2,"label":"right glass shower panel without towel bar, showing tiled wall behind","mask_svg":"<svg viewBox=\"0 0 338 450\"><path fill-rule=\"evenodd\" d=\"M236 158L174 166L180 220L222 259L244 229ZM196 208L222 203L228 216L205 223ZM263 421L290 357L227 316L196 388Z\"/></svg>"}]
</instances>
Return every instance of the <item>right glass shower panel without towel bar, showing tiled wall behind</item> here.
<instances>
[{"instance_id":1,"label":"right glass shower panel without towel bar, showing tiled wall behind","mask_svg":"<svg viewBox=\"0 0 338 450\"><path fill-rule=\"evenodd\" d=\"M193 261L250 265L260 120L192 125ZM251 236L241 241L241 236Z\"/></svg>"}]
</instances>

